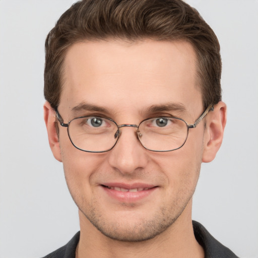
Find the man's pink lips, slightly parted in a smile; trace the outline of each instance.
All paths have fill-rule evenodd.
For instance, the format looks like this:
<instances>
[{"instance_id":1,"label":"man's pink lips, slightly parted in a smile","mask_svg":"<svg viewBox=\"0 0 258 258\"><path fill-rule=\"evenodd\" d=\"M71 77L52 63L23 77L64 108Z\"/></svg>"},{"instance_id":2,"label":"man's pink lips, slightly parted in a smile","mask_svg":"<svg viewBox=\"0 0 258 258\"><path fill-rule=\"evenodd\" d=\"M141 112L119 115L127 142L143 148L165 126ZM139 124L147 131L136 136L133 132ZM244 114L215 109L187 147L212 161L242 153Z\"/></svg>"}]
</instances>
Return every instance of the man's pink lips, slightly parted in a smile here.
<instances>
[{"instance_id":1,"label":"man's pink lips, slightly parted in a smile","mask_svg":"<svg viewBox=\"0 0 258 258\"><path fill-rule=\"evenodd\" d=\"M100 185L109 197L123 203L134 203L151 195L158 186L146 183L104 183Z\"/></svg>"}]
</instances>

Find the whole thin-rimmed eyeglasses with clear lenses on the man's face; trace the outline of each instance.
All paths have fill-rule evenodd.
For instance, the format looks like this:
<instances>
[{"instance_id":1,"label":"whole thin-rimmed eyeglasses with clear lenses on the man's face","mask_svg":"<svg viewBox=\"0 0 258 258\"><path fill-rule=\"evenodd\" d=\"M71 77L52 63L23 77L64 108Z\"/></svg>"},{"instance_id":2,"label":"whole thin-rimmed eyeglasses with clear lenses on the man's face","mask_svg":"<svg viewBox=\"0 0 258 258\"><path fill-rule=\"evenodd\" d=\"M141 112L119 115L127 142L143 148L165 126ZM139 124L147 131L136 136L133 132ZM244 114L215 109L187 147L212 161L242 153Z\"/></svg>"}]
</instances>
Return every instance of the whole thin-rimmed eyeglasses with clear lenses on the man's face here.
<instances>
[{"instance_id":1,"label":"whole thin-rimmed eyeglasses with clear lenses on the man's face","mask_svg":"<svg viewBox=\"0 0 258 258\"><path fill-rule=\"evenodd\" d=\"M68 136L74 147L85 152L100 153L114 148L122 127L136 128L140 143L149 151L177 150L186 142L189 128L195 128L210 110L213 110L213 105L209 105L193 124L188 124L178 117L162 116L147 118L139 125L117 125L110 118L98 116L80 116L64 123L57 109L55 111L60 125L67 127Z\"/></svg>"}]
</instances>

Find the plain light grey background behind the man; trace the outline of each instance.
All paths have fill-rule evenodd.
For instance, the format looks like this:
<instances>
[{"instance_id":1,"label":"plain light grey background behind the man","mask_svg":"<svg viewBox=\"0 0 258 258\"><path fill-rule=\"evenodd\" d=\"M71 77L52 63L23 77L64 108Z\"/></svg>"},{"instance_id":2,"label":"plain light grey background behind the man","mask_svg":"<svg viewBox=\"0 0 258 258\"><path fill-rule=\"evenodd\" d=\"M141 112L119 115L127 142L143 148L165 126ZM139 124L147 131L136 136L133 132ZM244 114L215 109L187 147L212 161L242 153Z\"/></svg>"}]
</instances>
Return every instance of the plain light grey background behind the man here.
<instances>
[{"instance_id":1,"label":"plain light grey background behind the man","mask_svg":"<svg viewBox=\"0 0 258 258\"><path fill-rule=\"evenodd\" d=\"M0 257L40 257L79 230L43 122L44 40L72 0L0 0ZM221 43L224 142L204 164L200 221L240 257L258 257L258 1L188 0Z\"/></svg>"}]
</instances>

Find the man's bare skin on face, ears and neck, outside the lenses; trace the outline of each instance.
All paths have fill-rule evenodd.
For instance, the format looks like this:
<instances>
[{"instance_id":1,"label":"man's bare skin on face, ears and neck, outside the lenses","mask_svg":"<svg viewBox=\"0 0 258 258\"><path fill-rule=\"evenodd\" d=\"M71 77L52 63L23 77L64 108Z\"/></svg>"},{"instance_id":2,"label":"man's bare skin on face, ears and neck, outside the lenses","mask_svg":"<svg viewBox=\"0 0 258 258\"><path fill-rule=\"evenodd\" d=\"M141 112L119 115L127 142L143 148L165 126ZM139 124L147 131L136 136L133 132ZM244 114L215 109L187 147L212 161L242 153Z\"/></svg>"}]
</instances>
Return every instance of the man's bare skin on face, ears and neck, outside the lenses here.
<instances>
[{"instance_id":1,"label":"man's bare skin on face, ears and neck, outside the lenses","mask_svg":"<svg viewBox=\"0 0 258 258\"><path fill-rule=\"evenodd\" d=\"M193 123L204 111L196 54L187 42L80 42L70 47L63 68L58 111L66 123L91 114L117 124L139 124L162 115ZM72 111L85 103L104 110ZM168 103L183 108L148 110ZM144 149L132 127L121 129L111 151L83 152L71 144L60 125L58 139L55 112L47 102L44 118L51 150L63 163L79 208L77 257L204 257L192 230L192 195L201 163L212 161L221 145L226 123L223 102L208 113L206 127L203 120L189 130L182 148L163 153ZM117 200L102 186L115 183L155 188L136 201Z\"/></svg>"}]
</instances>

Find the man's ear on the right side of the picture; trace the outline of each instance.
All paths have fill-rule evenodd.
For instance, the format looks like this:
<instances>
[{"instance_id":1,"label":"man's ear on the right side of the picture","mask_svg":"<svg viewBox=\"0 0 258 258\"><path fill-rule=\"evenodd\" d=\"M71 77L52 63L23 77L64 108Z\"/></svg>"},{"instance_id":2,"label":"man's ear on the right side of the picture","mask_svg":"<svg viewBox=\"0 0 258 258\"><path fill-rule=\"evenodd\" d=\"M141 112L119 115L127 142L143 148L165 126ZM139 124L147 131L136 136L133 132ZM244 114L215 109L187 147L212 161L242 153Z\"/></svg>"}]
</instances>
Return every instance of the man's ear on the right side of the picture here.
<instances>
[{"instance_id":1,"label":"man's ear on the right side of the picture","mask_svg":"<svg viewBox=\"0 0 258 258\"><path fill-rule=\"evenodd\" d=\"M214 105L206 117L206 128L204 133L203 162L211 162L222 144L224 128L227 121L227 106L220 101Z\"/></svg>"}]
</instances>

